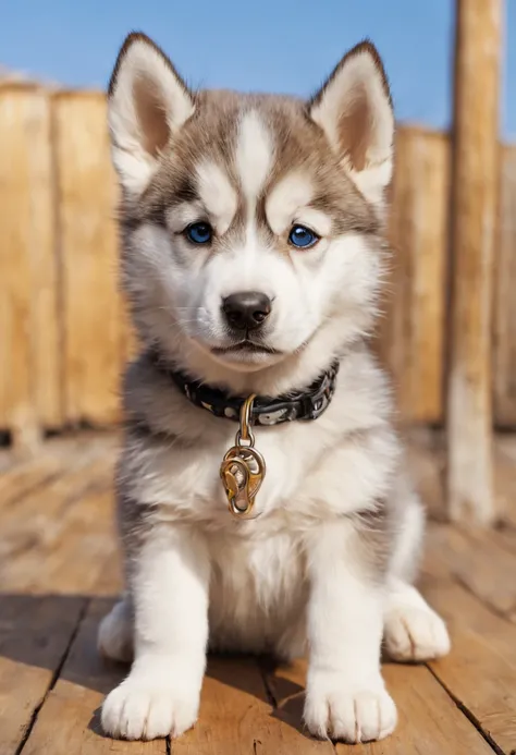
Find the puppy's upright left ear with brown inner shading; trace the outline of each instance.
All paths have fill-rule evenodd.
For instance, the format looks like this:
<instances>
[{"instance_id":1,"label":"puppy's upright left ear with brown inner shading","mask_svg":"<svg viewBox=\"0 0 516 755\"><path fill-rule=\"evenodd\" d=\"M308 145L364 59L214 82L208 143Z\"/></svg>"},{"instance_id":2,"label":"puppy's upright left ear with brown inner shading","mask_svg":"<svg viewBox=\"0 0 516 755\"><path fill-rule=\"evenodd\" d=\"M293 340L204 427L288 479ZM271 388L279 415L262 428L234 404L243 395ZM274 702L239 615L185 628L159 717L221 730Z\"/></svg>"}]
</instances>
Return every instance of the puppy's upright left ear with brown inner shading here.
<instances>
[{"instance_id":1,"label":"puppy's upright left ear with brown inner shading","mask_svg":"<svg viewBox=\"0 0 516 755\"><path fill-rule=\"evenodd\" d=\"M192 93L164 52L145 34L130 34L108 92L112 159L128 194L144 191L170 137L194 108Z\"/></svg>"}]
</instances>

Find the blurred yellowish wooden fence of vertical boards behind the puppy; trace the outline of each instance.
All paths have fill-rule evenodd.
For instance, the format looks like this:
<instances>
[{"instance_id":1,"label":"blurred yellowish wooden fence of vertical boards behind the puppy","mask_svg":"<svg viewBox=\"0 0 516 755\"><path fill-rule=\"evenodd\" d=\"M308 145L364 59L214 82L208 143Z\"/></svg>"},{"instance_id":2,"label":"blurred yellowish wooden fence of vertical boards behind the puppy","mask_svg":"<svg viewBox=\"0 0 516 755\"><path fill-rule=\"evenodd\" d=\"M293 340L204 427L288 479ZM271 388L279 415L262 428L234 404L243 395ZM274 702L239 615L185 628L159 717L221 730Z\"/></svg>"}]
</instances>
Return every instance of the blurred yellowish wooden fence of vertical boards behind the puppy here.
<instances>
[{"instance_id":1,"label":"blurred yellowish wooden fence of vertical boards behind the puppy","mask_svg":"<svg viewBox=\"0 0 516 755\"><path fill-rule=\"evenodd\" d=\"M395 251L378 348L407 422L444 418L449 342L450 142L398 129ZM516 147L500 148L492 334L495 423L516 426ZM0 88L0 429L119 418L132 349L116 291L116 187L105 96Z\"/></svg>"}]
</instances>

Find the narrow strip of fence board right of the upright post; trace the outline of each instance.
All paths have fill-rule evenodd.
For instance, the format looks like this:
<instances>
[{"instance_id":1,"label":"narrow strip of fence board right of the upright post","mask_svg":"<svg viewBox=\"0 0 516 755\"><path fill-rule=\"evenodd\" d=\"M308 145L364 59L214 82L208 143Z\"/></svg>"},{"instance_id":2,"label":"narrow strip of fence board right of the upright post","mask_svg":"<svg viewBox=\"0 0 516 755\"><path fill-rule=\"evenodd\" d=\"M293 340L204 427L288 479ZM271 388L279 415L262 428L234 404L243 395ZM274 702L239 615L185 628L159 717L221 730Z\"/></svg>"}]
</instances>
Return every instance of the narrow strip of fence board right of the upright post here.
<instances>
[{"instance_id":1,"label":"narrow strip of fence board right of the upright post","mask_svg":"<svg viewBox=\"0 0 516 755\"><path fill-rule=\"evenodd\" d=\"M501 149L500 211L494 290L494 418L516 426L516 147Z\"/></svg>"}]
</instances>

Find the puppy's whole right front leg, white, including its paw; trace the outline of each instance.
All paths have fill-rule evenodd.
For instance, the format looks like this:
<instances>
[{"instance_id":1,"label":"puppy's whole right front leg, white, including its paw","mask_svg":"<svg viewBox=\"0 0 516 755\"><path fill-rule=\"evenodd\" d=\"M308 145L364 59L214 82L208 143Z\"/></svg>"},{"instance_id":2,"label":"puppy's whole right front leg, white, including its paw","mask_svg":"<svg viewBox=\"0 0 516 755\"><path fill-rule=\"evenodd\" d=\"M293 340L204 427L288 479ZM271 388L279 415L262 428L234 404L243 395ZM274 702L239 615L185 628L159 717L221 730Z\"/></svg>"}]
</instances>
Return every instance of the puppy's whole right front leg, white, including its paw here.
<instances>
[{"instance_id":1,"label":"puppy's whole right front leg, white, including its paw","mask_svg":"<svg viewBox=\"0 0 516 755\"><path fill-rule=\"evenodd\" d=\"M310 533L305 721L314 734L349 743L382 739L396 724L380 672L382 567L371 560L351 519Z\"/></svg>"}]
</instances>

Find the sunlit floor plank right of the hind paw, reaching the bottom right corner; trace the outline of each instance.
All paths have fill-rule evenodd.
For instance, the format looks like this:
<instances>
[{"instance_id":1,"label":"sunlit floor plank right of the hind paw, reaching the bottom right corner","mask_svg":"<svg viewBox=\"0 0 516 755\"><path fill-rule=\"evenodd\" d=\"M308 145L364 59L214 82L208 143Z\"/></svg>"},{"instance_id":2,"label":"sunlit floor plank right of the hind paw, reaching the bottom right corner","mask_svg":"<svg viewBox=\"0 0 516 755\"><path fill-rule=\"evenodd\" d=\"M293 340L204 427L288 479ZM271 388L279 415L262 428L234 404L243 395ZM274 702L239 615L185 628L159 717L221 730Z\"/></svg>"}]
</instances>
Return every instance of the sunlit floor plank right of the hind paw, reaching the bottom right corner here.
<instances>
[{"instance_id":1,"label":"sunlit floor plank right of the hind paw, reaching the bottom right corner","mask_svg":"<svg viewBox=\"0 0 516 755\"><path fill-rule=\"evenodd\" d=\"M432 563L427 564L422 587L449 623L452 652L431 663L432 671L496 752L512 755L516 747L516 625L495 616L453 580L435 576L437 560L437 555L429 559ZM499 574L502 579L507 575Z\"/></svg>"}]
</instances>

